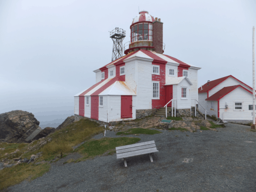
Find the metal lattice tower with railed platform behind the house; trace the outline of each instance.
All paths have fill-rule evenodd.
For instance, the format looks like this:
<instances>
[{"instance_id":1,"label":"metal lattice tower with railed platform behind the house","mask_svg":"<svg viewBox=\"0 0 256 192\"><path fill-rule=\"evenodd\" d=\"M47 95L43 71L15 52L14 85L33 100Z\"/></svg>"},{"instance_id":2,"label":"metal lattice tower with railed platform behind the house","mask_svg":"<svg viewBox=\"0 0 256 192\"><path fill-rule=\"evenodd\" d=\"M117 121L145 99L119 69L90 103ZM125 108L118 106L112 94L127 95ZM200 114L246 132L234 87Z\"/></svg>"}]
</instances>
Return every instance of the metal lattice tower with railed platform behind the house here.
<instances>
[{"instance_id":1,"label":"metal lattice tower with railed platform behind the house","mask_svg":"<svg viewBox=\"0 0 256 192\"><path fill-rule=\"evenodd\" d=\"M113 29L110 32L110 38L113 40L113 52L111 61L114 61L122 57L122 41L125 38L125 30L118 29L118 27Z\"/></svg>"}]
</instances>

